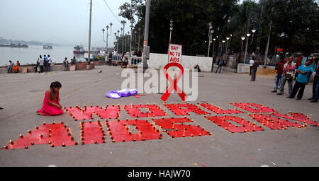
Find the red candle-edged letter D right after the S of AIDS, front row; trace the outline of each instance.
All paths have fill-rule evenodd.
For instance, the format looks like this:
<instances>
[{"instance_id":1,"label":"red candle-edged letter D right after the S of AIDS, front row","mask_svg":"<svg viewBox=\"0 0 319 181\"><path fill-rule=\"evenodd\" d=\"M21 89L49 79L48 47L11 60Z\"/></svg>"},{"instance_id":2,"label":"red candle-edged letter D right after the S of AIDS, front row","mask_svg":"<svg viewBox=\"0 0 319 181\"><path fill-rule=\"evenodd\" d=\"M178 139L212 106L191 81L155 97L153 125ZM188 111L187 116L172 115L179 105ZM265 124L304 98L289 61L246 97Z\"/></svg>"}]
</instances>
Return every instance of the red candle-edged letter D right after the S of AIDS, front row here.
<instances>
[{"instance_id":1,"label":"red candle-edged letter D right after the S of AIDS, front row","mask_svg":"<svg viewBox=\"0 0 319 181\"><path fill-rule=\"evenodd\" d=\"M258 127L255 123L251 123L249 121L246 121L244 118L240 117L213 116L206 118L232 133L257 132L264 130L262 127ZM241 126L234 125L231 122L235 122L237 124L240 124Z\"/></svg>"}]
</instances>

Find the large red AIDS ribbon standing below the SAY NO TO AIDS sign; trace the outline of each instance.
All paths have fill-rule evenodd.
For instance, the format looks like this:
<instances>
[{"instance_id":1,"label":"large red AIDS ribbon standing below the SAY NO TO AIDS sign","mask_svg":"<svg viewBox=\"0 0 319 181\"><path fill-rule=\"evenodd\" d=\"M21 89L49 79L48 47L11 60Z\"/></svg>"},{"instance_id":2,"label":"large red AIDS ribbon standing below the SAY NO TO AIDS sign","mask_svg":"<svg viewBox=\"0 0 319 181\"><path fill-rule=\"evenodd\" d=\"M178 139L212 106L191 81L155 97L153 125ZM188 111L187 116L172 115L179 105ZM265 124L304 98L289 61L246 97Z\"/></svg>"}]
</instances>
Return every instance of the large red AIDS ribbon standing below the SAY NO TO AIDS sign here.
<instances>
[{"instance_id":1,"label":"large red AIDS ribbon standing below the SAY NO TO AIDS sign","mask_svg":"<svg viewBox=\"0 0 319 181\"><path fill-rule=\"evenodd\" d=\"M177 78L174 79L174 81L172 77L169 76L169 74L167 74L167 69L169 69L169 67L171 66L177 66L179 69L181 69L181 71L179 72L179 75L177 76ZM187 98L186 94L183 91L181 91L181 88L179 88L179 86L177 86L177 81L179 81L184 74L183 66L181 66L181 64L179 63L169 63L166 66L164 66L164 74L167 80L169 81L169 83L171 83L171 86L167 88L166 92L164 93L164 95L162 95L161 99L164 100L164 102L166 102L166 100L169 98L169 95L171 95L174 89L179 94L179 97L181 98L181 100L185 101Z\"/></svg>"}]
</instances>

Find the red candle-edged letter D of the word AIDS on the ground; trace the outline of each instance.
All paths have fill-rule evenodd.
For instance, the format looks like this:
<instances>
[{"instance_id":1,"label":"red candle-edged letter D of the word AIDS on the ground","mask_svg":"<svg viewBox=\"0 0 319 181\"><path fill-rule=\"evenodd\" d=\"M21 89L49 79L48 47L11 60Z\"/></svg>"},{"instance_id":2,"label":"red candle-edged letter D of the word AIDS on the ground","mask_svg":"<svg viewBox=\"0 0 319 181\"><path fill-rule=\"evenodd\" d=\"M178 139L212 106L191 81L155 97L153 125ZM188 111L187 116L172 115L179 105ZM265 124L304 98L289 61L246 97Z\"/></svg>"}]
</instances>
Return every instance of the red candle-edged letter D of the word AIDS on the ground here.
<instances>
[{"instance_id":1,"label":"red candle-edged letter D of the word AIDS on the ground","mask_svg":"<svg viewBox=\"0 0 319 181\"><path fill-rule=\"evenodd\" d=\"M118 121L106 121L108 127L108 133L111 135L113 142L119 141L145 141L152 139L162 139L162 134L145 120L119 120ZM134 126L138 133L131 132L129 126Z\"/></svg>"}]
</instances>

